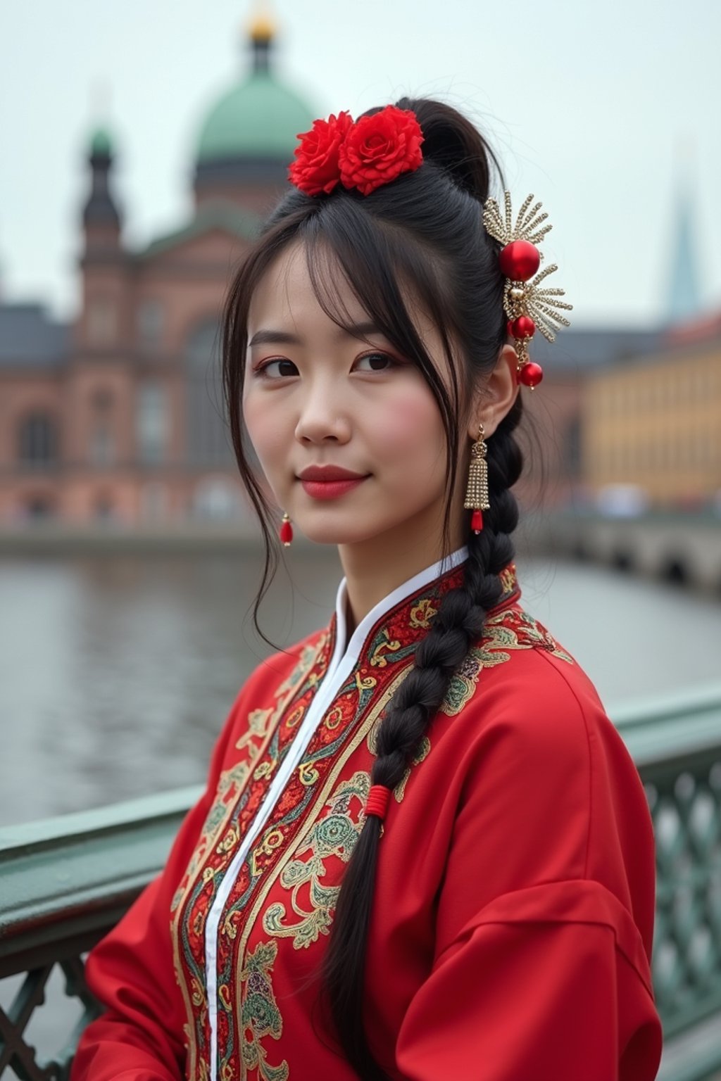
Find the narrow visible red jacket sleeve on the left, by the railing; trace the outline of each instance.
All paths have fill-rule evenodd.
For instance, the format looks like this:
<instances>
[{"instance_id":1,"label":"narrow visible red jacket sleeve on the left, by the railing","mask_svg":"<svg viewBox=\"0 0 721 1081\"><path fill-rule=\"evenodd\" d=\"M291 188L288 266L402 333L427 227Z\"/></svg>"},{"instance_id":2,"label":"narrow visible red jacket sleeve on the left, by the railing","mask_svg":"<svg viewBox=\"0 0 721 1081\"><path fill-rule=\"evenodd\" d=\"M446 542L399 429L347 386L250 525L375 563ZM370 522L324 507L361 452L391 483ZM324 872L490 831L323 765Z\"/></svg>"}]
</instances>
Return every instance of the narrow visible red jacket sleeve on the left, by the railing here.
<instances>
[{"instance_id":1,"label":"narrow visible red jacket sleeve on the left, by the railing","mask_svg":"<svg viewBox=\"0 0 721 1081\"><path fill-rule=\"evenodd\" d=\"M175 977L171 902L213 803L242 693L216 742L205 791L186 815L163 871L88 957L88 986L106 1011L83 1031L70 1081L179 1081L184 1076L187 1018Z\"/></svg>"}]
</instances>

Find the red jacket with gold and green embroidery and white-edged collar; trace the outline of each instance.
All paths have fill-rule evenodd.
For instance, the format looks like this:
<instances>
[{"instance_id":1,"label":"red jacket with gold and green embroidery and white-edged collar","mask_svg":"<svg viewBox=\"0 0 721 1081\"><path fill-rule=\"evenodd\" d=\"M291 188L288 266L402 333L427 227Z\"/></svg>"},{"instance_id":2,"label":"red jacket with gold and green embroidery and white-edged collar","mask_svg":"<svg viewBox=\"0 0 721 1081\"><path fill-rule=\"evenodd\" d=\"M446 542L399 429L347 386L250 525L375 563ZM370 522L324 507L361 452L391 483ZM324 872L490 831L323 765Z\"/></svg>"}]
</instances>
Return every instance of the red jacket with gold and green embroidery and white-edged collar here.
<instances>
[{"instance_id":1,"label":"red jacket with gold and green embroidery and white-edged collar","mask_svg":"<svg viewBox=\"0 0 721 1081\"><path fill-rule=\"evenodd\" d=\"M313 983L362 826L374 729L465 549L238 694L163 872L88 960L106 1013L71 1081L351 1081ZM441 571L444 570L444 573ZM573 658L511 564L395 791L364 1026L398 1081L652 1081L652 822Z\"/></svg>"}]
</instances>

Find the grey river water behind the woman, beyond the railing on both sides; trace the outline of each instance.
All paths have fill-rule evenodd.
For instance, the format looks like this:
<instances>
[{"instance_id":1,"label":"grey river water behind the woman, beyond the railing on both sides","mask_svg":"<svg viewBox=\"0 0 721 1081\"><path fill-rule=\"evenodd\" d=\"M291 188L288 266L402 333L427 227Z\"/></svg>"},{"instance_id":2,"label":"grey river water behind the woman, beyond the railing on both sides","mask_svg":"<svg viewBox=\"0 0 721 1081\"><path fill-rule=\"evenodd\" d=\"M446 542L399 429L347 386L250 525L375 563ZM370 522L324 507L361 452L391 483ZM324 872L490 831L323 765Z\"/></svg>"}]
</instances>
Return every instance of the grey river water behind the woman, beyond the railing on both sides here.
<instances>
[{"instance_id":1,"label":"grey river water behind the woman, beyond the railing on both sides","mask_svg":"<svg viewBox=\"0 0 721 1081\"><path fill-rule=\"evenodd\" d=\"M298 546L263 609L288 644L328 622L335 550ZM613 716L720 678L721 602L588 564L520 558L523 604ZM200 784L249 672L269 652L249 604L259 557L0 560L0 826Z\"/></svg>"}]
</instances>

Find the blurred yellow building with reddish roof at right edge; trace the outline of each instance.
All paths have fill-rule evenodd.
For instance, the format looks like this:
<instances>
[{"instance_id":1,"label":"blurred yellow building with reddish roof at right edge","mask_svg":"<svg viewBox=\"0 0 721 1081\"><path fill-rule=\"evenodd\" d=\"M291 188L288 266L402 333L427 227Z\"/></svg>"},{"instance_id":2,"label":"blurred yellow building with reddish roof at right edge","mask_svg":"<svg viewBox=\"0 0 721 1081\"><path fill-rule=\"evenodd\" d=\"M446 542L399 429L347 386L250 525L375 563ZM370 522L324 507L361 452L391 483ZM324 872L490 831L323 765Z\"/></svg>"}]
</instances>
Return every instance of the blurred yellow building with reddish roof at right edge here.
<instances>
[{"instance_id":1,"label":"blurred yellow building with reddish roof at right edge","mask_svg":"<svg viewBox=\"0 0 721 1081\"><path fill-rule=\"evenodd\" d=\"M580 412L582 472L597 499L616 485L638 486L641 499L659 507L718 499L721 316L675 329L655 351L589 373Z\"/></svg>"}]
</instances>

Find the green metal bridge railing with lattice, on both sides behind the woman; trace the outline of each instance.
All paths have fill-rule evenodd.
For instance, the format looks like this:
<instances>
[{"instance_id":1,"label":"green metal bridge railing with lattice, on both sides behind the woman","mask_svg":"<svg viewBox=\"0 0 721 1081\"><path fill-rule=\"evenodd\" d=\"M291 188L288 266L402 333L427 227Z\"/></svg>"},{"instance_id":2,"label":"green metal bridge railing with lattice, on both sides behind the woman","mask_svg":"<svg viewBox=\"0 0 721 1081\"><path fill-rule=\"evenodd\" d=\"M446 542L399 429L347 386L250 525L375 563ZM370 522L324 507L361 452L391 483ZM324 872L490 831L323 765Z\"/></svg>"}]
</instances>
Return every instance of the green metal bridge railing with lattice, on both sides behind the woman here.
<instances>
[{"instance_id":1,"label":"green metal bridge railing with lattice, on both sides behind the woman","mask_svg":"<svg viewBox=\"0 0 721 1081\"><path fill-rule=\"evenodd\" d=\"M664 1025L658 1081L721 1071L721 684L617 709L614 721L643 780L656 837L653 946ZM185 788L0 830L0 1075L67 1077L97 1004L83 955L164 864L201 792ZM41 1056L27 1029L58 970L79 1017L64 1050Z\"/></svg>"}]
</instances>

